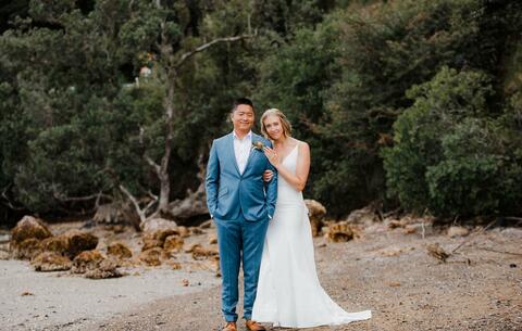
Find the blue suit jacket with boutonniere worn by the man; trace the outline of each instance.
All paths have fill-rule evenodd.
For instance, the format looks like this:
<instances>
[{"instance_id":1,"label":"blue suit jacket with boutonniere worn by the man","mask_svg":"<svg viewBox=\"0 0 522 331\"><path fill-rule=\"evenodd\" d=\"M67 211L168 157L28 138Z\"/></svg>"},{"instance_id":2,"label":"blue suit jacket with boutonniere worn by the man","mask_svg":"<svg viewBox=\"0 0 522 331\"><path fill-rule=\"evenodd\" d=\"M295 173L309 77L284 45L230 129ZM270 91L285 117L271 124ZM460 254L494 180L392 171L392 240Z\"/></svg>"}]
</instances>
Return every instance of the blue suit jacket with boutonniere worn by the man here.
<instances>
[{"instance_id":1,"label":"blue suit jacket with boutonniere worn by the man","mask_svg":"<svg viewBox=\"0 0 522 331\"><path fill-rule=\"evenodd\" d=\"M252 132L252 143L272 143ZM263 181L264 170L274 171L270 182ZM207 165L207 206L213 218L258 221L272 218L277 199L277 171L264 152L251 149L245 171L239 174L234 153L234 136L228 133L215 139L210 149Z\"/></svg>"}]
</instances>

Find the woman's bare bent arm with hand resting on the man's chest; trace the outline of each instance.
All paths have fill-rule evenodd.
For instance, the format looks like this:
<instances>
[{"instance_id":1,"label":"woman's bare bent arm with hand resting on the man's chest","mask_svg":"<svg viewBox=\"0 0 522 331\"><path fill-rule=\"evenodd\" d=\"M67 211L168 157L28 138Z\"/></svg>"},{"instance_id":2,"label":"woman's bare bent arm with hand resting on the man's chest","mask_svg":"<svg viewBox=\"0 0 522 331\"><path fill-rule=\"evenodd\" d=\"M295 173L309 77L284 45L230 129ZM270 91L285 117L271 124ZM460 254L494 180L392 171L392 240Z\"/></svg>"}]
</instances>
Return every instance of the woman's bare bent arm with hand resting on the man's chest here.
<instances>
[{"instance_id":1,"label":"woman's bare bent arm with hand resting on the man's chest","mask_svg":"<svg viewBox=\"0 0 522 331\"><path fill-rule=\"evenodd\" d=\"M277 176L283 177L286 182L291 184L296 190L302 191L304 190L308 174L310 173L310 147L306 142L300 142L298 150L296 175L291 174L282 165L279 156L276 155L272 149L266 149L265 153L269 161L277 169Z\"/></svg>"}]
</instances>

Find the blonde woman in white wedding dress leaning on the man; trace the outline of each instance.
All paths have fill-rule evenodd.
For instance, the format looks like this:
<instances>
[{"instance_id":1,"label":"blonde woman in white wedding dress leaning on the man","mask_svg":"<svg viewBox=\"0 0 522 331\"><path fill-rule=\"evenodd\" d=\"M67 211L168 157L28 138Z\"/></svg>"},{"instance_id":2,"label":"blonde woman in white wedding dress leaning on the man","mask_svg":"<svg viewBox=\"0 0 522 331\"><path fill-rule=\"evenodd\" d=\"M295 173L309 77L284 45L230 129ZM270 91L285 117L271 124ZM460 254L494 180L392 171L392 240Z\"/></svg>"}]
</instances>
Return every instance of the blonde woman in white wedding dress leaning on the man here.
<instances>
[{"instance_id":1,"label":"blonde woman in white wedding dress leaning on the man","mask_svg":"<svg viewBox=\"0 0 522 331\"><path fill-rule=\"evenodd\" d=\"M264 153L277 169L277 202L261 259L252 319L274 327L310 328L372 317L347 313L330 298L315 270L313 241L302 190L310 170L310 148L290 136L286 116L272 109L261 116L261 131L274 142ZM265 176L269 180L270 174Z\"/></svg>"}]
</instances>

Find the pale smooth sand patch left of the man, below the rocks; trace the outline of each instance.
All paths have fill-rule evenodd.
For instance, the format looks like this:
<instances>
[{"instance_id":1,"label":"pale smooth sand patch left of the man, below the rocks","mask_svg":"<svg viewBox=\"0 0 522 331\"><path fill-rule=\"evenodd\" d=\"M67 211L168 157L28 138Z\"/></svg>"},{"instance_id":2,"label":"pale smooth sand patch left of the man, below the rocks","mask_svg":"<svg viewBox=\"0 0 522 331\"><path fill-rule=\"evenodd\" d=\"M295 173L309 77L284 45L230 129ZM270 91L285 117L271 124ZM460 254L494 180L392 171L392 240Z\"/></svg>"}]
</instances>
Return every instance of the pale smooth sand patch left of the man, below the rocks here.
<instances>
[{"instance_id":1,"label":"pale smooth sand patch left of the man, below the rocks","mask_svg":"<svg viewBox=\"0 0 522 331\"><path fill-rule=\"evenodd\" d=\"M132 268L127 276L91 280L67 272L35 272L27 262L0 262L1 330L75 329L115 318L142 304L219 284L207 271ZM189 279L188 287L183 280Z\"/></svg>"}]
</instances>

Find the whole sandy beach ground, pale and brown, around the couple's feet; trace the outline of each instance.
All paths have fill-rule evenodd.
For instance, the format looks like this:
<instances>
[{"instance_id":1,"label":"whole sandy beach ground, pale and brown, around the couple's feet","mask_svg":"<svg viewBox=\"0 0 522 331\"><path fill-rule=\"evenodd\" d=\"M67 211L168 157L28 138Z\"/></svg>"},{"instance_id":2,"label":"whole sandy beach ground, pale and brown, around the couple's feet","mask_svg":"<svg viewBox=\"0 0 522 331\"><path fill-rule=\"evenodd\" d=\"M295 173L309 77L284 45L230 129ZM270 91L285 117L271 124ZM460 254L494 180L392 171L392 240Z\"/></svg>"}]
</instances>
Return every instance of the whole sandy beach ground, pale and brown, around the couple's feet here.
<instances>
[{"instance_id":1,"label":"whole sandy beach ground, pale and brown, around the couple's feet","mask_svg":"<svg viewBox=\"0 0 522 331\"><path fill-rule=\"evenodd\" d=\"M464 244L442 263L426 253L435 242L448 251ZM522 229L472 230L463 238L435 231L422 239L376 224L360 239L316 238L314 244L320 280L332 298L349 311L372 309L373 317L309 330L522 330ZM123 278L89 280L1 260L0 272L2 330L222 327L221 279L209 270L134 268ZM243 322L239 330L246 330Z\"/></svg>"}]
</instances>

